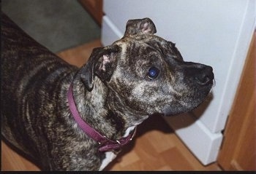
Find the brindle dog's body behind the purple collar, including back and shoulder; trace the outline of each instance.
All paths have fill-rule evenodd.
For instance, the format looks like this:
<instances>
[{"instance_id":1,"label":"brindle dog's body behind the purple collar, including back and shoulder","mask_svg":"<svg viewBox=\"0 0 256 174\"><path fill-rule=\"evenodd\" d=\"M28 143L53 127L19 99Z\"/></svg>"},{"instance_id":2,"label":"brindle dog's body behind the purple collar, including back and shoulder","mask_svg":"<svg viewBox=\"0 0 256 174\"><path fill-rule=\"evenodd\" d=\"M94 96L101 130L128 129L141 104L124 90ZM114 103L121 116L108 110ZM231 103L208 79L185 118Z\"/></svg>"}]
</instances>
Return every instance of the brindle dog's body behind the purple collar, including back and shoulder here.
<instances>
[{"instance_id":1,"label":"brindle dog's body behind the purple collar, including back and shoulder","mask_svg":"<svg viewBox=\"0 0 256 174\"><path fill-rule=\"evenodd\" d=\"M78 71L2 14L1 135L42 170L98 170L105 157L69 111Z\"/></svg>"}]
</instances>

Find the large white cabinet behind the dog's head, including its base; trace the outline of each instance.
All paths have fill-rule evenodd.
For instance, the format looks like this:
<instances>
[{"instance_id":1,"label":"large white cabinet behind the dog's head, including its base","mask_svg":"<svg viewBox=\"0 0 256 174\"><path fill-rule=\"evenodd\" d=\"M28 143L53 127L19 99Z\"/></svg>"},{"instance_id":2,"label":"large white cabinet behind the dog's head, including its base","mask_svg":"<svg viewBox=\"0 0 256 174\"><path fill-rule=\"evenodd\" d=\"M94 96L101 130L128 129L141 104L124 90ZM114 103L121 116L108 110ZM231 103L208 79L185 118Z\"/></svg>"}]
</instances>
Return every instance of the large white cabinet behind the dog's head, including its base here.
<instances>
[{"instance_id":1,"label":"large white cabinet behind the dog's head, including its base","mask_svg":"<svg viewBox=\"0 0 256 174\"><path fill-rule=\"evenodd\" d=\"M102 44L121 38L127 20L150 17L156 34L175 42L184 60L214 68L212 97L192 113L166 118L204 165L217 158L255 29L255 6L255 0L105 0L103 4Z\"/></svg>"}]
</instances>

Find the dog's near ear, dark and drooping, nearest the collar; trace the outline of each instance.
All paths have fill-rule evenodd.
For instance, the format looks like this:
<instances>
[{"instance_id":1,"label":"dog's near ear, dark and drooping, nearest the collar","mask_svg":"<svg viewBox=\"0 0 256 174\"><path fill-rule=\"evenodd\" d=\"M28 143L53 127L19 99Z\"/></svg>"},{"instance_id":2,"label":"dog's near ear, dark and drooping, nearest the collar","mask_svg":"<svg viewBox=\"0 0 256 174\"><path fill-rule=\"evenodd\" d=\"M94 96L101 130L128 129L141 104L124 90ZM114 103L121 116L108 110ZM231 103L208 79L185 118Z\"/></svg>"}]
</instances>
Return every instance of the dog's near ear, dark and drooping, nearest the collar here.
<instances>
[{"instance_id":1,"label":"dog's near ear, dark and drooping, nearest the collar","mask_svg":"<svg viewBox=\"0 0 256 174\"><path fill-rule=\"evenodd\" d=\"M120 50L118 45L94 48L88 62L80 68L80 76L86 89L91 91L94 87L94 76L99 76L102 81L109 81L116 69L116 56Z\"/></svg>"}]
</instances>

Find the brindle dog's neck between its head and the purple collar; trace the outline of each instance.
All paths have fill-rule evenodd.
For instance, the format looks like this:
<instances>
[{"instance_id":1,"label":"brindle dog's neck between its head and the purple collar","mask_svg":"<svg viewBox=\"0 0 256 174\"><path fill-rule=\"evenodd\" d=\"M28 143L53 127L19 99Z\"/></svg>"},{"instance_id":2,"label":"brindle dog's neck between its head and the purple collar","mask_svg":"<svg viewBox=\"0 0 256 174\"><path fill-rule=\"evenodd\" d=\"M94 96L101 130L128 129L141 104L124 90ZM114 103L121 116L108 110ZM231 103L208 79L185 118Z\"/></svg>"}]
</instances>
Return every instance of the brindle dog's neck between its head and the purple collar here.
<instances>
[{"instance_id":1,"label":"brindle dog's neck between its head and the purple collar","mask_svg":"<svg viewBox=\"0 0 256 174\"><path fill-rule=\"evenodd\" d=\"M113 140L122 138L127 132L129 133L129 127L134 127L147 118L147 116L138 116L137 113L135 115L135 111L129 111L131 109L124 106L121 99L117 98L116 94L113 94L113 91L97 77L94 79L94 88L91 92L78 80L75 80L72 86L80 117L107 138ZM140 117L143 120L139 119Z\"/></svg>"}]
</instances>

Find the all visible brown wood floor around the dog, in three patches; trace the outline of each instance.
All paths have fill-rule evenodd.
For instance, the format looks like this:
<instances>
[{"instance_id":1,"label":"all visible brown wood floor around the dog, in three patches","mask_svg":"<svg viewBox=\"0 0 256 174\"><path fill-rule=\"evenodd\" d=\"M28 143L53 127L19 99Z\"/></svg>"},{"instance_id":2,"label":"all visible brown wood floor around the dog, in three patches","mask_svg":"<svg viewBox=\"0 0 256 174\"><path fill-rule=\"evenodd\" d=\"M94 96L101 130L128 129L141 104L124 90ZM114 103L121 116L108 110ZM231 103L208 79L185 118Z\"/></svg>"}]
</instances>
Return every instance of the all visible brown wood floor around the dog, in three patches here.
<instances>
[{"instance_id":1,"label":"all visible brown wood floor around the dog, in three patches","mask_svg":"<svg viewBox=\"0 0 256 174\"><path fill-rule=\"evenodd\" d=\"M67 62L82 66L100 41L59 52ZM1 170L39 170L1 142ZM161 116L151 116L138 126L134 140L105 170L220 170L216 163L203 166L184 146Z\"/></svg>"}]
</instances>

